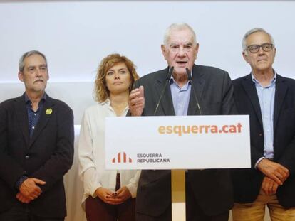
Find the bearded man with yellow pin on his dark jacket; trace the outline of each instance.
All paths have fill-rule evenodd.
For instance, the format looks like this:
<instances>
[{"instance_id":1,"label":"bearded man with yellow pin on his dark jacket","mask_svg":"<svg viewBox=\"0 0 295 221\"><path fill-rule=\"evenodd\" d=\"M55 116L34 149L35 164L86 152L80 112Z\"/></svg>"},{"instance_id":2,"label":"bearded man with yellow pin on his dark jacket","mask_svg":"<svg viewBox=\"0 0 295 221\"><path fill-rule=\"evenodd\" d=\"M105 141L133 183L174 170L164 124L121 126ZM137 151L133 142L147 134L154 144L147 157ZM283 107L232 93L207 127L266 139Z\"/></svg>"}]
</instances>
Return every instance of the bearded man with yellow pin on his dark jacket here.
<instances>
[{"instance_id":1,"label":"bearded man with yellow pin on his dark jacket","mask_svg":"<svg viewBox=\"0 0 295 221\"><path fill-rule=\"evenodd\" d=\"M48 66L32 50L19 60L25 92L0 104L0 220L61 221L63 176L73 163L73 111L49 97Z\"/></svg>"}]
</instances>

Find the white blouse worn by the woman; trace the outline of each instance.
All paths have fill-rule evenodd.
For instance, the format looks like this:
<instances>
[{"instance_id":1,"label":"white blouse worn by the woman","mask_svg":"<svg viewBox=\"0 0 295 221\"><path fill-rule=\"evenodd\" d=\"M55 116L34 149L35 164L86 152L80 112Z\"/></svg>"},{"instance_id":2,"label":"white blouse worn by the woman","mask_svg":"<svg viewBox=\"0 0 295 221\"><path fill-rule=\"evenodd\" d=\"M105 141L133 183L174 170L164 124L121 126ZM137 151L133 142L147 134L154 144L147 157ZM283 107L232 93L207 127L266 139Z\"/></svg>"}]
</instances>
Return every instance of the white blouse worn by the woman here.
<instances>
[{"instance_id":1,"label":"white blouse worn by the woman","mask_svg":"<svg viewBox=\"0 0 295 221\"><path fill-rule=\"evenodd\" d=\"M121 117L126 116L127 112L128 107ZM89 195L95 198L95 190L100 187L115 192L117 173L120 173L120 186L126 186L132 197L136 197L140 171L105 170L105 117L116 117L113 108L110 107L109 99L88 107L83 114L78 143L79 174L84 184L82 202Z\"/></svg>"}]
</instances>

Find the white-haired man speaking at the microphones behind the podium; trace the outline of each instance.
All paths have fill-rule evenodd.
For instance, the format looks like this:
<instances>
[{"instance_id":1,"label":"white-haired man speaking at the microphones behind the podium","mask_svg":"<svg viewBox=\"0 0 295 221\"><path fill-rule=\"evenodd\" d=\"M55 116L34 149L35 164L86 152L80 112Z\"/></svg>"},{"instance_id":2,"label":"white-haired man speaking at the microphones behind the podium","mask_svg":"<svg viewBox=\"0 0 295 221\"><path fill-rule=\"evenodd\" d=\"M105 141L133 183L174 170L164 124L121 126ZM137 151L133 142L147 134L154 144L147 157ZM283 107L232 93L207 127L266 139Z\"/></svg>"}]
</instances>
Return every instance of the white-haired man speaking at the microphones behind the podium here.
<instances>
[{"instance_id":1,"label":"white-haired man speaking at the microphones behind the podium","mask_svg":"<svg viewBox=\"0 0 295 221\"><path fill-rule=\"evenodd\" d=\"M167 28L161 48L168 67L135 82L138 88L131 92L129 100L131 115L219 115L234 112L233 87L228 73L195 65L199 44L187 23L173 23ZM191 170L187 171L185 180L187 220L228 220L233 205L229 171ZM142 171L136 215L139 221L171 220L170 171Z\"/></svg>"}]
</instances>

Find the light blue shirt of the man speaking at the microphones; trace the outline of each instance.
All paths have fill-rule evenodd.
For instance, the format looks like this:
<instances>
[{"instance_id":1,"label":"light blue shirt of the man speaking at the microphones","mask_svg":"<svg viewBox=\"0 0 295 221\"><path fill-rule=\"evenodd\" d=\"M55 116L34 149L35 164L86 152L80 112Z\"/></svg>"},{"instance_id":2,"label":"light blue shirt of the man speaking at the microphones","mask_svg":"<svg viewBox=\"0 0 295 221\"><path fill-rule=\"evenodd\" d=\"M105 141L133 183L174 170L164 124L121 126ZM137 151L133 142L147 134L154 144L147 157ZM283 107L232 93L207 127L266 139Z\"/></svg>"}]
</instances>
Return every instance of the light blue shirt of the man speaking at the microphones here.
<instances>
[{"instance_id":1,"label":"light blue shirt of the man speaking at the microphones","mask_svg":"<svg viewBox=\"0 0 295 221\"><path fill-rule=\"evenodd\" d=\"M173 107L176 116L186 116L190 103L190 90L192 85L187 81L183 87L177 85L173 76L170 79L170 90L172 96Z\"/></svg>"}]
</instances>

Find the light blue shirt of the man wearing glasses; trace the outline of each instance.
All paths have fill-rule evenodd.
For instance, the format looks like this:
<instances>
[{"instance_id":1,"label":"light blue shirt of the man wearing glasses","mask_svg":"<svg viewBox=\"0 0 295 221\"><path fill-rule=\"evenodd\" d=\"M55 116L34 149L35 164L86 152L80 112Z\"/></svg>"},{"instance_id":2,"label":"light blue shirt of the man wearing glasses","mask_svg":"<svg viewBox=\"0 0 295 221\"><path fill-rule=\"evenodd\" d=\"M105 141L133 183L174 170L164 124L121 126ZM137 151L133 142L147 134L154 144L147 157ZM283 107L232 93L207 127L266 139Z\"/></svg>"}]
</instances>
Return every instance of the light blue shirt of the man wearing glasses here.
<instances>
[{"instance_id":1,"label":"light blue shirt of the man wearing glasses","mask_svg":"<svg viewBox=\"0 0 295 221\"><path fill-rule=\"evenodd\" d=\"M274 78L266 87L262 86L252 73L252 80L255 83L259 99L260 109L262 112L262 124L264 132L264 157L274 158L274 95L276 92L276 72ZM257 164L264 158L259 158Z\"/></svg>"}]
</instances>

